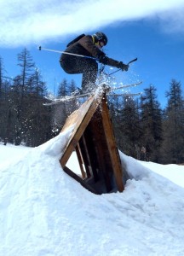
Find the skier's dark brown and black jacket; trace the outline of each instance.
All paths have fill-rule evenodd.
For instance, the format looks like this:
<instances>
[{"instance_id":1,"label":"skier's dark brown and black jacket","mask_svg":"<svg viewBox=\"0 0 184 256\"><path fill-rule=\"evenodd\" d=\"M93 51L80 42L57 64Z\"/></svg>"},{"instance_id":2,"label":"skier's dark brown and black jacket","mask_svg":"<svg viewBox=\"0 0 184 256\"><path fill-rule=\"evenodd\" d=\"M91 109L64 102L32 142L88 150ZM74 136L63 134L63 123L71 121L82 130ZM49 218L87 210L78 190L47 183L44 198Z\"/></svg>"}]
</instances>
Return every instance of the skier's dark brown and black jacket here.
<instances>
[{"instance_id":1,"label":"skier's dark brown and black jacket","mask_svg":"<svg viewBox=\"0 0 184 256\"><path fill-rule=\"evenodd\" d=\"M70 44L65 52L95 57L99 59L101 63L111 67L118 67L119 65L119 61L106 57L106 54L95 45L94 38L89 35L83 36L83 38L80 38L78 42L74 44ZM62 54L61 60L64 60L67 56L66 54Z\"/></svg>"}]
</instances>

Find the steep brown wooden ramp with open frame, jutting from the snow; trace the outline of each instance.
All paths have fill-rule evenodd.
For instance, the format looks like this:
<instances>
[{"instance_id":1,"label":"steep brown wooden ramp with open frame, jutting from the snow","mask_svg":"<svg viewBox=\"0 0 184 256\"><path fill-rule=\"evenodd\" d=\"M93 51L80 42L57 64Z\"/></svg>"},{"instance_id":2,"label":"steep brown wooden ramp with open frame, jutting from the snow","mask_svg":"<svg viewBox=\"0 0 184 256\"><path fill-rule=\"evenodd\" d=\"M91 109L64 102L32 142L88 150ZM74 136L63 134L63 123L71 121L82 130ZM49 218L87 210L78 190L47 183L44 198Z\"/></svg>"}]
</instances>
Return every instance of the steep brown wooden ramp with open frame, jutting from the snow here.
<instances>
[{"instance_id":1,"label":"steep brown wooden ramp with open frame, jutting from the snow","mask_svg":"<svg viewBox=\"0 0 184 256\"><path fill-rule=\"evenodd\" d=\"M66 119L61 132L70 126L74 128L60 159L63 170L95 194L122 192L123 170L106 104L105 87L97 95L90 96ZM74 150L78 156L80 176L66 167Z\"/></svg>"}]
</instances>

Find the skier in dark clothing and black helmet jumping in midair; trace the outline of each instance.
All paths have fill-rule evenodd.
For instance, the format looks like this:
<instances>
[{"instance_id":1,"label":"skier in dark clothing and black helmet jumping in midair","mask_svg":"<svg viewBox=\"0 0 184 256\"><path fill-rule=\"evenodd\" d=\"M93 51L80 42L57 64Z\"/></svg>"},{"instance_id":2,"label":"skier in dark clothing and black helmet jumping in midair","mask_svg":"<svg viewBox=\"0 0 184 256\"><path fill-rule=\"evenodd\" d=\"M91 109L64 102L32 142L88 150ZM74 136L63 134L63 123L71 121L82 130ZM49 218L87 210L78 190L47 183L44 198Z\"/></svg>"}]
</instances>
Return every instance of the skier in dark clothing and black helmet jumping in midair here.
<instances>
[{"instance_id":1,"label":"skier in dark clothing and black helmet jumping in midair","mask_svg":"<svg viewBox=\"0 0 184 256\"><path fill-rule=\"evenodd\" d=\"M103 32L96 32L94 35L80 35L67 44L65 52L60 55L60 66L66 73L77 74L82 73L82 91L88 92L95 87L95 80L98 73L98 63L111 67L121 68L123 71L128 71L129 65L123 61L115 61L108 58L101 50L107 44L106 35ZM78 55L83 55L78 56ZM86 57L85 57L86 56Z\"/></svg>"}]
</instances>

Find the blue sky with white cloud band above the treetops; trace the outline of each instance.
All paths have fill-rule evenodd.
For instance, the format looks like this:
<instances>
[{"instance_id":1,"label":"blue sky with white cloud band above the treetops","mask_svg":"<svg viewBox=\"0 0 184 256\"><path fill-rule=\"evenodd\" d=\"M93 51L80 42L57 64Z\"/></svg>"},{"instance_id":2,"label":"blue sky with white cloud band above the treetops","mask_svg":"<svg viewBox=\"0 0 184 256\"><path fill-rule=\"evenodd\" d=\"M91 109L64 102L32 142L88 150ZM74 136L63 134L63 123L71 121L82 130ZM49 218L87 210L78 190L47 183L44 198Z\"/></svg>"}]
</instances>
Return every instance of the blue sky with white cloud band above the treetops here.
<instances>
[{"instance_id":1,"label":"blue sky with white cloud band above the treetops","mask_svg":"<svg viewBox=\"0 0 184 256\"><path fill-rule=\"evenodd\" d=\"M184 90L183 13L184 0L1 1L0 56L6 75L14 77L20 71L17 55L26 48L49 90L56 91L64 78L74 79L80 86L81 75L67 75L61 70L60 54L37 47L62 51L78 34L105 32L106 55L124 63L138 58L129 72L113 75L117 84L142 80L143 84L131 92L143 91L152 84L164 106L171 79L180 81ZM106 73L115 70L106 67Z\"/></svg>"}]
</instances>

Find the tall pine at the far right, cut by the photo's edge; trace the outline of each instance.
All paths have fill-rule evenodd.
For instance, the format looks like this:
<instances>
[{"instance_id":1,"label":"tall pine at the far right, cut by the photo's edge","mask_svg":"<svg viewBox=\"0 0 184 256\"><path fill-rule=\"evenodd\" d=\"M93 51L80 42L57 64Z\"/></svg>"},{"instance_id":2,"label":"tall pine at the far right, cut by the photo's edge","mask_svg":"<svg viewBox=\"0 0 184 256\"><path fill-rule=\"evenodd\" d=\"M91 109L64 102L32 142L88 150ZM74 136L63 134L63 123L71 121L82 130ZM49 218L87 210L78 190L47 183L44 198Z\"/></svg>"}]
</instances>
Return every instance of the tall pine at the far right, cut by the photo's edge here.
<instances>
[{"instance_id":1,"label":"tall pine at the far right, cut by the photo's edge","mask_svg":"<svg viewBox=\"0 0 184 256\"><path fill-rule=\"evenodd\" d=\"M184 162L184 102L181 83L172 79L166 92L167 107L164 109L164 163Z\"/></svg>"}]
</instances>

